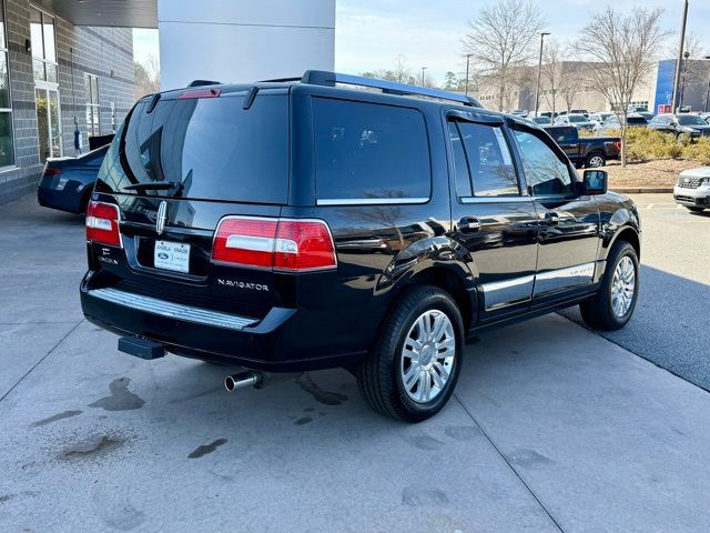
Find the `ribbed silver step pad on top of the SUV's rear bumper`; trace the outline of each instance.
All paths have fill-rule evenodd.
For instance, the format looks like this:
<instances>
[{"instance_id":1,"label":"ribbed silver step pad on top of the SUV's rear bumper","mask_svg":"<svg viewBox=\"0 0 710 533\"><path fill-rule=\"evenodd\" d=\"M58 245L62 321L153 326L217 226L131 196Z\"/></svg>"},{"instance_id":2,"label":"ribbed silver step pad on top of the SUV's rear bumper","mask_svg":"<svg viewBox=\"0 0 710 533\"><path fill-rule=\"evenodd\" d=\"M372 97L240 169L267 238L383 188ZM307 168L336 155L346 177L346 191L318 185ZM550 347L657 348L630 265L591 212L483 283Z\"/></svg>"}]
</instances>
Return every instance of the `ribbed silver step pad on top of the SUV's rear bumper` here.
<instances>
[{"instance_id":1,"label":"ribbed silver step pad on top of the SUV's rear bumper","mask_svg":"<svg viewBox=\"0 0 710 533\"><path fill-rule=\"evenodd\" d=\"M98 298L124 308L227 330L241 331L257 322L254 319L247 319L245 316L166 302L165 300L119 291L116 289L94 289L89 291L88 294L92 298Z\"/></svg>"}]
</instances>

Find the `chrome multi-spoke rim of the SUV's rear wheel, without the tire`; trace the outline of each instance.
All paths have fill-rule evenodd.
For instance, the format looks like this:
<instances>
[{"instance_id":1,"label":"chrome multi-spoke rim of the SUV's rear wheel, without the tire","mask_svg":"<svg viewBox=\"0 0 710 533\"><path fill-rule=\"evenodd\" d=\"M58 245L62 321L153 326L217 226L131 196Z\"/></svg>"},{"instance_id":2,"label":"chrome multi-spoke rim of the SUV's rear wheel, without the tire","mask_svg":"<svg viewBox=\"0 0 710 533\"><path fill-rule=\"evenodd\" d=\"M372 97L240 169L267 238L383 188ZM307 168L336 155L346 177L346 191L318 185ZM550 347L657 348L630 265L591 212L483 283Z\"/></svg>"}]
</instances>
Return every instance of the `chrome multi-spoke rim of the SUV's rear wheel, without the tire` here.
<instances>
[{"instance_id":1,"label":"chrome multi-spoke rim of the SUV's rear wheel, without the tire","mask_svg":"<svg viewBox=\"0 0 710 533\"><path fill-rule=\"evenodd\" d=\"M456 358L454 325L443 311L425 311L412 324L402 349L402 382L417 403L434 400L446 386Z\"/></svg>"}]
</instances>

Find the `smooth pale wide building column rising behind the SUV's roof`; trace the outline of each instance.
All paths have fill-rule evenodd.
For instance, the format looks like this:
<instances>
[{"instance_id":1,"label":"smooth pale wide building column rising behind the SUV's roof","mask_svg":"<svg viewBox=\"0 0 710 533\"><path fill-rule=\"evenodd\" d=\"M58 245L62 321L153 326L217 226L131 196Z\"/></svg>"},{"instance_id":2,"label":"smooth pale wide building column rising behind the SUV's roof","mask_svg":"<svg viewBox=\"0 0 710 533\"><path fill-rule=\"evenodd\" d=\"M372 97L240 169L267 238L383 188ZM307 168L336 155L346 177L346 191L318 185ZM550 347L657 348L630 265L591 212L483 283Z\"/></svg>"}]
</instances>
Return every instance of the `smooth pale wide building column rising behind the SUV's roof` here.
<instances>
[{"instance_id":1,"label":"smooth pale wide building column rising behind the SUV's roof","mask_svg":"<svg viewBox=\"0 0 710 533\"><path fill-rule=\"evenodd\" d=\"M335 0L158 0L161 90L333 70Z\"/></svg>"}]
</instances>

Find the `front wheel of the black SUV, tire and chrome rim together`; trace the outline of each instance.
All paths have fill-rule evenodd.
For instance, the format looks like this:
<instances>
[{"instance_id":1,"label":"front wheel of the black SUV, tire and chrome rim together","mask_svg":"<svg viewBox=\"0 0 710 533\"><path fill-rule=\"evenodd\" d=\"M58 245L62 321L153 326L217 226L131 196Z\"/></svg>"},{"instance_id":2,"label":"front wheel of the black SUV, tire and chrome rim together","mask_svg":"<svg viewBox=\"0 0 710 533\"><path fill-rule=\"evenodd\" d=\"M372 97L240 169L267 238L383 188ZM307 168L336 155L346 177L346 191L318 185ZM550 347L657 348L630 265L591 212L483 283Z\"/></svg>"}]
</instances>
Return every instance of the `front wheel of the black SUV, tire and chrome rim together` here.
<instances>
[{"instance_id":1,"label":"front wheel of the black SUV, tire and chrome rim together","mask_svg":"<svg viewBox=\"0 0 710 533\"><path fill-rule=\"evenodd\" d=\"M620 264L623 263L623 266ZM630 274L632 269L632 289L629 294ZM625 281L626 280L626 281ZM616 286L615 286L616 285ZM612 293L619 291L619 296ZM615 331L623 328L631 319L639 295L639 259L636 250L626 241L617 242L607 260L607 270L601 279L601 286L597 294L579 304L581 318L592 329ZM620 311L622 311L620 313Z\"/></svg>"}]
</instances>

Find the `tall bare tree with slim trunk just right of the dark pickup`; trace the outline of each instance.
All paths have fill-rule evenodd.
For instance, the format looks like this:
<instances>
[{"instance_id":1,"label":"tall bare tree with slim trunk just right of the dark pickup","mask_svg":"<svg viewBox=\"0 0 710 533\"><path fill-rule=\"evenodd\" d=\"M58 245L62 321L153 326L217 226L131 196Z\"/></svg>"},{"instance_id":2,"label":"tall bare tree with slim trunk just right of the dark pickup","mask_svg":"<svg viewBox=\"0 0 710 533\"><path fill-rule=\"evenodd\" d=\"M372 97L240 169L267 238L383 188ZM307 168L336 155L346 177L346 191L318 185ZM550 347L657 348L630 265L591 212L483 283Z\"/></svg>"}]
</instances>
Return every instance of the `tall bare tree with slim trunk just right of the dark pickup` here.
<instances>
[{"instance_id":1,"label":"tall bare tree with slim trunk just right of the dark pickup","mask_svg":"<svg viewBox=\"0 0 710 533\"><path fill-rule=\"evenodd\" d=\"M656 64L656 53L667 33L661 30L660 9L635 8L623 16L606 8L592 16L575 44L595 64L586 69L586 84L604 94L621 124L621 164L626 167L626 114L638 87Z\"/></svg>"}]
</instances>

